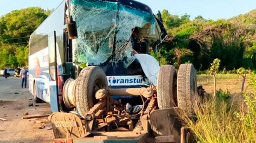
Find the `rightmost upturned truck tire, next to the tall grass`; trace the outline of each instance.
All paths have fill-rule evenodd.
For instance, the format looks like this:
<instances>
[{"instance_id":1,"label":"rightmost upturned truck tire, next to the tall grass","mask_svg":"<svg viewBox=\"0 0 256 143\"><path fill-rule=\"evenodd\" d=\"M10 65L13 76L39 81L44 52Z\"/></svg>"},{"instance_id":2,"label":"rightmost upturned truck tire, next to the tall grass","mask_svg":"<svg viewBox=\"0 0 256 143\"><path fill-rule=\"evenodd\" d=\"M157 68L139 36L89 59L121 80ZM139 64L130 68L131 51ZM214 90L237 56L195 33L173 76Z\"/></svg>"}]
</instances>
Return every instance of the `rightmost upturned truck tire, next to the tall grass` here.
<instances>
[{"instance_id":1,"label":"rightmost upturned truck tire, next to the tall grass","mask_svg":"<svg viewBox=\"0 0 256 143\"><path fill-rule=\"evenodd\" d=\"M181 64L177 81L178 107L191 117L198 104L197 77L193 64Z\"/></svg>"}]
</instances>

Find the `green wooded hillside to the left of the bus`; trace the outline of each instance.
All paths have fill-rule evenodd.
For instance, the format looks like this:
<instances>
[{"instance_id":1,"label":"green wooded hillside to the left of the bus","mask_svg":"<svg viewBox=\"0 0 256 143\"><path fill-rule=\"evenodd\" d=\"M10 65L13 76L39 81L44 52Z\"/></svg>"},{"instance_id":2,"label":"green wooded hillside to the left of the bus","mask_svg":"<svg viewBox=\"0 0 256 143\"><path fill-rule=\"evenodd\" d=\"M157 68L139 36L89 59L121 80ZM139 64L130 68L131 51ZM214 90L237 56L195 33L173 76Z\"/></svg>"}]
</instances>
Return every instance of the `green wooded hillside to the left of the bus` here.
<instances>
[{"instance_id":1,"label":"green wooded hillside to the left of the bus","mask_svg":"<svg viewBox=\"0 0 256 143\"><path fill-rule=\"evenodd\" d=\"M0 69L28 65L29 36L50 13L29 7L0 17Z\"/></svg>"}]
</instances>

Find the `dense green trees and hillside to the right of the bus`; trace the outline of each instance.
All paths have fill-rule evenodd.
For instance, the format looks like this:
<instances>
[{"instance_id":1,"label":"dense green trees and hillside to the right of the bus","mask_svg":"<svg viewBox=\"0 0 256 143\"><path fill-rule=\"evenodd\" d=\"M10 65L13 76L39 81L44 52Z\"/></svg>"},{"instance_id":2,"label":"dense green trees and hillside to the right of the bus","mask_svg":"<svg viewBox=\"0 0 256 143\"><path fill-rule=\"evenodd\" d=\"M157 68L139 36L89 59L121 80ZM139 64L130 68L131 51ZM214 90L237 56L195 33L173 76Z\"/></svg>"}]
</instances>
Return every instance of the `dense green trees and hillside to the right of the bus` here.
<instances>
[{"instance_id":1,"label":"dense green trees and hillside to the right of the bus","mask_svg":"<svg viewBox=\"0 0 256 143\"><path fill-rule=\"evenodd\" d=\"M190 20L162 11L168 36L151 52L161 64L193 63L198 70L208 69L218 58L221 69L256 67L256 9L231 19L207 20L197 16Z\"/></svg>"}]
</instances>

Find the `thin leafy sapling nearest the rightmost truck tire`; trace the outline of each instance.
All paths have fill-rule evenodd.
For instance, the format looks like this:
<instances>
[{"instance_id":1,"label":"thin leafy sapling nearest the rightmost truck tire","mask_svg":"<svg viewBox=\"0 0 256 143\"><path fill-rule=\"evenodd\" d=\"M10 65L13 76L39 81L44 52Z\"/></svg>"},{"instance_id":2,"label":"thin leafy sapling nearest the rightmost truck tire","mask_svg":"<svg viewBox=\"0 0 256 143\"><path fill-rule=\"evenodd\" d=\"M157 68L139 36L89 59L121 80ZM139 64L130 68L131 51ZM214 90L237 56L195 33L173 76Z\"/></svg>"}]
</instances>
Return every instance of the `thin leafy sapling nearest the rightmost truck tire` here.
<instances>
[{"instance_id":1,"label":"thin leafy sapling nearest the rightmost truck tire","mask_svg":"<svg viewBox=\"0 0 256 143\"><path fill-rule=\"evenodd\" d=\"M214 82L213 94L214 94L214 97L216 96L216 74L218 72L220 62L221 62L221 60L214 59L213 62L211 63L211 67L209 69L210 74L213 75L213 82Z\"/></svg>"}]
</instances>

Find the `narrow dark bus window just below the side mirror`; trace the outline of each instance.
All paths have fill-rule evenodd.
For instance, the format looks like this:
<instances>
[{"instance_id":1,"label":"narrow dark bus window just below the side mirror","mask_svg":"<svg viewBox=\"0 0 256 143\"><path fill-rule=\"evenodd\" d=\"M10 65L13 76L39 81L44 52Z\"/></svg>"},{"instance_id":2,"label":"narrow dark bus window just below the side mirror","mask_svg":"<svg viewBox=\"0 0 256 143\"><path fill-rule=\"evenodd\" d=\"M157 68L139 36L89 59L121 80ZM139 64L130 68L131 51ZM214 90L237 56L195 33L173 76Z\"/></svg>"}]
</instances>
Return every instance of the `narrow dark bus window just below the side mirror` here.
<instances>
[{"instance_id":1,"label":"narrow dark bus window just below the side mirror","mask_svg":"<svg viewBox=\"0 0 256 143\"><path fill-rule=\"evenodd\" d=\"M66 63L73 62L73 54L72 54L72 39L69 39L68 31L65 31L65 56Z\"/></svg>"}]
</instances>

